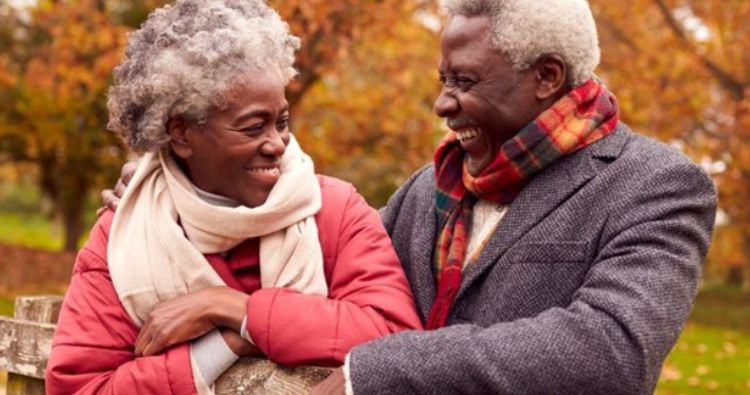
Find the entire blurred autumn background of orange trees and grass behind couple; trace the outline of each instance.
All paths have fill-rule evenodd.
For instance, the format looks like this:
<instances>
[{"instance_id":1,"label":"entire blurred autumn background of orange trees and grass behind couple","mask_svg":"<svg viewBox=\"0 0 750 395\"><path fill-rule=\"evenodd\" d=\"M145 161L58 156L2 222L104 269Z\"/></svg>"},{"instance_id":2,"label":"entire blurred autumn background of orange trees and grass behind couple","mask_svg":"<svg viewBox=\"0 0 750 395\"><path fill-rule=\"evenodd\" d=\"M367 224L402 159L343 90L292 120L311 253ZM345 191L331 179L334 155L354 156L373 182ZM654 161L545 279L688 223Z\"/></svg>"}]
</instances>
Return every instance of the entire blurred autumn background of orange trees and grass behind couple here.
<instances>
[{"instance_id":1,"label":"entire blurred autumn background of orange trees and grass behind couple","mask_svg":"<svg viewBox=\"0 0 750 395\"><path fill-rule=\"evenodd\" d=\"M128 157L105 130L111 70L127 32L164 3L0 0L0 295L29 289L12 270L85 238ZM432 114L445 15L435 0L270 3L302 38L288 90L301 144L318 172L383 205L445 130ZM682 150L720 192L703 291L657 392L750 393L750 1L590 3L598 74L622 119Z\"/></svg>"}]
</instances>

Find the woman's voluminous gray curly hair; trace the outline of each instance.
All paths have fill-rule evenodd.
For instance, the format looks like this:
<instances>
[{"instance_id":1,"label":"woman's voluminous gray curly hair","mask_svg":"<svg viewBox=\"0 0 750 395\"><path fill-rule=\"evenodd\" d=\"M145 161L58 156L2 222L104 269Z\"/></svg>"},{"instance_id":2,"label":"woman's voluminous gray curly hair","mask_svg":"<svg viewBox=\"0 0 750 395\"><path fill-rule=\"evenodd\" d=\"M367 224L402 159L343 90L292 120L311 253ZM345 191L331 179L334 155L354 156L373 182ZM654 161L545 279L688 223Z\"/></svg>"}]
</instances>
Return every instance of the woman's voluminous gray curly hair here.
<instances>
[{"instance_id":1,"label":"woman's voluminous gray curly hair","mask_svg":"<svg viewBox=\"0 0 750 395\"><path fill-rule=\"evenodd\" d=\"M178 0L128 35L109 89L107 127L135 151L169 141L171 117L201 123L253 71L289 81L299 39L263 0Z\"/></svg>"}]
</instances>

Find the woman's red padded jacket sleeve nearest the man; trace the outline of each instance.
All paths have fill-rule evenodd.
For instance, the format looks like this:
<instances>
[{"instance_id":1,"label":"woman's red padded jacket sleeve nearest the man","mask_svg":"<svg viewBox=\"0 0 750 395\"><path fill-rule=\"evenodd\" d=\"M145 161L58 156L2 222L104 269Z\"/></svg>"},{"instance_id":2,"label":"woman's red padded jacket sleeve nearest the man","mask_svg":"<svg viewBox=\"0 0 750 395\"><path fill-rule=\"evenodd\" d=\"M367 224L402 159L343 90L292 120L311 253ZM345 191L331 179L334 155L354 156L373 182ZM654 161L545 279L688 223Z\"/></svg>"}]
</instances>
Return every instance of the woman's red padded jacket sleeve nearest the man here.
<instances>
[{"instance_id":1,"label":"woman's red padded jacket sleeve nearest the man","mask_svg":"<svg viewBox=\"0 0 750 395\"><path fill-rule=\"evenodd\" d=\"M333 217L340 223L319 228L321 232L338 232L333 237L335 258L332 264L326 263L328 297L265 288L248 298L248 333L274 362L341 365L356 345L421 328L380 216L351 185L337 188L345 196L339 207L328 212L338 213ZM330 203L324 199L325 204ZM328 253L324 246L324 255Z\"/></svg>"}]
</instances>

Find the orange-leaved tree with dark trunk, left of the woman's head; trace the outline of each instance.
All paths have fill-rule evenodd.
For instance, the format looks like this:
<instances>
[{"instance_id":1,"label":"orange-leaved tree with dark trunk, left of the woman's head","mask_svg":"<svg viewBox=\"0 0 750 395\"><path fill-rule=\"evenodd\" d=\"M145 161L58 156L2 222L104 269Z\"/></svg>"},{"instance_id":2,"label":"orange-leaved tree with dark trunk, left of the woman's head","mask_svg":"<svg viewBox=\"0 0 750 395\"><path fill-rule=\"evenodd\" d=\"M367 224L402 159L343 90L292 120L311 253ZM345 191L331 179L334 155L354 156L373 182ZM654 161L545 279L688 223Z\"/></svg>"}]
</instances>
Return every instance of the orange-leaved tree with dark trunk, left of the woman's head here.
<instances>
[{"instance_id":1,"label":"orange-leaved tree with dark trunk, left of the woman's head","mask_svg":"<svg viewBox=\"0 0 750 395\"><path fill-rule=\"evenodd\" d=\"M104 95L125 30L90 0L40 1L5 18L13 28L0 60L9 103L0 109L0 159L37 165L41 189L62 219L64 248L74 250L87 192L124 160L104 129Z\"/></svg>"}]
</instances>

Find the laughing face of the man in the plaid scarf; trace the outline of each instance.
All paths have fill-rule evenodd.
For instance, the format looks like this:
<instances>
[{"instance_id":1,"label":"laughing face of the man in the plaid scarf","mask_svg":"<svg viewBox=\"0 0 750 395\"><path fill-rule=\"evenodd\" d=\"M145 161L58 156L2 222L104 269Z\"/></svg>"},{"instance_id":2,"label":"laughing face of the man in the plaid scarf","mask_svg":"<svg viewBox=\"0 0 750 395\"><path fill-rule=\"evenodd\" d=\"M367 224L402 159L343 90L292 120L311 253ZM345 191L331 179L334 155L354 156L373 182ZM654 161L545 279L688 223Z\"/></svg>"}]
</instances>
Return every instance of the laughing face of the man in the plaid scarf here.
<instances>
[{"instance_id":1,"label":"laughing face of the man in the plaid scarf","mask_svg":"<svg viewBox=\"0 0 750 395\"><path fill-rule=\"evenodd\" d=\"M534 68L517 72L492 47L487 16L454 16L441 39L442 91L435 113L445 118L479 175L500 146L539 113Z\"/></svg>"}]
</instances>

